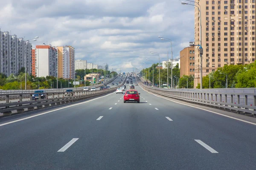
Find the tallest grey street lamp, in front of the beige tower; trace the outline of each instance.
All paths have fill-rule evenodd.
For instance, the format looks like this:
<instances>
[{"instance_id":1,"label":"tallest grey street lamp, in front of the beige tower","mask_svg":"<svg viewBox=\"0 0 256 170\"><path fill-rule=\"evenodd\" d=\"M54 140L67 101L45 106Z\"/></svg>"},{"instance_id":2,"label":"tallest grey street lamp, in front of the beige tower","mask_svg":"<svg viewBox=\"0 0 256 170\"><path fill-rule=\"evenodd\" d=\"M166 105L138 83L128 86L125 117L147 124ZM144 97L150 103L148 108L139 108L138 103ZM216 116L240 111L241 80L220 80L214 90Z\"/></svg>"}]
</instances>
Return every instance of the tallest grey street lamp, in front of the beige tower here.
<instances>
[{"instance_id":1,"label":"tallest grey street lamp, in front of the beige tower","mask_svg":"<svg viewBox=\"0 0 256 170\"><path fill-rule=\"evenodd\" d=\"M191 6L195 6L199 9L199 18L200 18L200 65L201 65L201 73L200 73L200 88L202 89L203 88L203 57L202 57L202 54L203 54L203 50L202 50L202 20L201 20L201 6L198 2L195 2L193 0L186 0L186 1L189 1L189 2L193 2L193 3L197 3L198 6L194 5L194 4L189 4L189 3L185 3L185 2L181 2L182 5L191 5Z\"/></svg>"}]
</instances>

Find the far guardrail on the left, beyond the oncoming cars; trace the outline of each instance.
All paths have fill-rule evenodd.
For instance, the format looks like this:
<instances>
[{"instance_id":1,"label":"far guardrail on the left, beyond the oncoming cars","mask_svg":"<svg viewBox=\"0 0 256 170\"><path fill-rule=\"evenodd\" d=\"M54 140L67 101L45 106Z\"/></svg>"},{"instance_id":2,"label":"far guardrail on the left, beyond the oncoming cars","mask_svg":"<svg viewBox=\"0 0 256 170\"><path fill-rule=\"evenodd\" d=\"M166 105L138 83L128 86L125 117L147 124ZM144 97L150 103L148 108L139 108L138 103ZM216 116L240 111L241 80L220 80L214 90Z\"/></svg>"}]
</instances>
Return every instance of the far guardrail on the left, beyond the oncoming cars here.
<instances>
[{"instance_id":1,"label":"far guardrail on the left, beyond the oncoming cars","mask_svg":"<svg viewBox=\"0 0 256 170\"><path fill-rule=\"evenodd\" d=\"M109 81L105 82L106 84L109 84L111 82L113 82L118 76L114 77L113 79L110 79ZM90 85L88 87L96 87L96 88L99 88L101 87L102 84L99 84L99 85ZM64 92L66 91L67 89L73 89L74 91L80 91L80 90L83 90L84 87L78 87L78 88L61 88L61 89L39 89L39 90L45 90L47 92L53 92L53 93L57 93L57 92ZM7 91L7 92L1 92L0 91L0 100L6 100L6 94L17 94L17 96L14 96L12 95L12 97L10 97L10 99L19 99L19 95L20 94L27 94L27 93L34 93L36 90L13 90L13 91ZM23 95L23 98L29 98L28 95Z\"/></svg>"}]
</instances>

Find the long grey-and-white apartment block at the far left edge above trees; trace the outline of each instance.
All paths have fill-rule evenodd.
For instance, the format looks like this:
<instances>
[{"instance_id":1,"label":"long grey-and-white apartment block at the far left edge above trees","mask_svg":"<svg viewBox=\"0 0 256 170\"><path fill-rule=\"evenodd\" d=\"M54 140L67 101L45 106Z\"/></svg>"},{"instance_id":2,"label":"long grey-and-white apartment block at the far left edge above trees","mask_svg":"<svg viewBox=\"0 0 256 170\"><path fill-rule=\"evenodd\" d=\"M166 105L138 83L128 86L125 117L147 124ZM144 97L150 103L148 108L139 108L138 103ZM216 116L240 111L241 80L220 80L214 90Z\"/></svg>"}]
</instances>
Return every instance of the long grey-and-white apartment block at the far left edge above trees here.
<instances>
[{"instance_id":1,"label":"long grey-and-white apartment block at the far left edge above trees","mask_svg":"<svg viewBox=\"0 0 256 170\"><path fill-rule=\"evenodd\" d=\"M28 74L32 73L31 51L31 43L0 30L0 73L7 76L17 74L22 67L26 68Z\"/></svg>"}]
</instances>

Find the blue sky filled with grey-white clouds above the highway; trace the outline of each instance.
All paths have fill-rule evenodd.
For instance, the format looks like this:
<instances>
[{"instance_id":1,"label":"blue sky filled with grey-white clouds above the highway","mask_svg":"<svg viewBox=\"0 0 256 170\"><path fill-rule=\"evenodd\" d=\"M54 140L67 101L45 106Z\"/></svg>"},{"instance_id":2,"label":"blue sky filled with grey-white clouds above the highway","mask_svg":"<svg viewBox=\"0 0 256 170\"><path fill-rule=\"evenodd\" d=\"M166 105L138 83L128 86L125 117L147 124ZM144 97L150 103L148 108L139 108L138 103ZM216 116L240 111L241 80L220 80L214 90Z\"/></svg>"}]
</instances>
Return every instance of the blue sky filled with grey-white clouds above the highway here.
<instances>
[{"instance_id":1,"label":"blue sky filled with grey-white clouds above the highway","mask_svg":"<svg viewBox=\"0 0 256 170\"><path fill-rule=\"evenodd\" d=\"M132 71L173 58L194 39L194 8L180 0L7 0L0 7L1 31L12 31L32 43L72 45L76 59ZM169 55L170 58L171 55Z\"/></svg>"}]
</instances>

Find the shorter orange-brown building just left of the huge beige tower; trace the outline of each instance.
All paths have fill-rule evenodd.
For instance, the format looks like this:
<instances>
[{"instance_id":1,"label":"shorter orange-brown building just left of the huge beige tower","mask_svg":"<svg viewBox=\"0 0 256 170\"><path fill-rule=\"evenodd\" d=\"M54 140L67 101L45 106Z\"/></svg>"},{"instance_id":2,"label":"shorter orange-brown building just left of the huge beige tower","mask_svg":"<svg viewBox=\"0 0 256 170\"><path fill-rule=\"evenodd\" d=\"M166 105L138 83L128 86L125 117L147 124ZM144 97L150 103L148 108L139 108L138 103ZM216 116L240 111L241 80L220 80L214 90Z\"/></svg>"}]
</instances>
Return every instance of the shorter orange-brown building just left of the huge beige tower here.
<instances>
[{"instance_id":1,"label":"shorter orange-brown building just left of the huge beige tower","mask_svg":"<svg viewBox=\"0 0 256 170\"><path fill-rule=\"evenodd\" d=\"M186 47L180 51L180 77L195 74L195 48Z\"/></svg>"}]
</instances>

